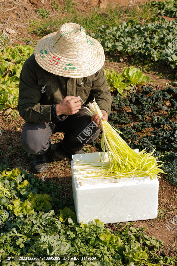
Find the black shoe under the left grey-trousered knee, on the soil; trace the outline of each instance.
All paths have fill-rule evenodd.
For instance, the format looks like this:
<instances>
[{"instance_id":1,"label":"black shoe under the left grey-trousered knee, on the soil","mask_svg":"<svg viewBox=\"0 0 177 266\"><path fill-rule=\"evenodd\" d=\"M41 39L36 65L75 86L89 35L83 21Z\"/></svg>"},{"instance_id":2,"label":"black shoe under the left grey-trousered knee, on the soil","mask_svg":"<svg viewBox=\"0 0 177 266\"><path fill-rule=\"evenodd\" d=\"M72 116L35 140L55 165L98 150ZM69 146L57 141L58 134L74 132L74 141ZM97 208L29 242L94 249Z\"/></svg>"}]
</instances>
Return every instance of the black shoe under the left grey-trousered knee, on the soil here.
<instances>
[{"instance_id":1,"label":"black shoe under the left grey-trousered knee, on the soil","mask_svg":"<svg viewBox=\"0 0 177 266\"><path fill-rule=\"evenodd\" d=\"M46 151L45 154L41 155L34 155L33 160L32 160L32 169L35 173L44 173L47 171L48 166L49 166L49 159L48 159L48 153L51 148L51 142L49 141L49 148Z\"/></svg>"}]
</instances>

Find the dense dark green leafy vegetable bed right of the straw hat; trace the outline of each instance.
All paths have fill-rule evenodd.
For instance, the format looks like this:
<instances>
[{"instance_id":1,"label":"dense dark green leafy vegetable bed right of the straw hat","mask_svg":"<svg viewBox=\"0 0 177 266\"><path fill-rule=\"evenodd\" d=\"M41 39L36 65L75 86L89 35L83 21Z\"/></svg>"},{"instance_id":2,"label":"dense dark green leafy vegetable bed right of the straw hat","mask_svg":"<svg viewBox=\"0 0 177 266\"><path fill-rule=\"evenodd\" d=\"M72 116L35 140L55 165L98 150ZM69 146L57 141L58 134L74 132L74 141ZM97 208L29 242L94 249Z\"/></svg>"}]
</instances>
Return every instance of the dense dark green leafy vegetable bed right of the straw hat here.
<instances>
[{"instance_id":1,"label":"dense dark green leafy vegetable bed right of the straw hat","mask_svg":"<svg viewBox=\"0 0 177 266\"><path fill-rule=\"evenodd\" d=\"M97 39L104 50L111 55L151 59L162 64L170 63L172 69L176 67L177 50L171 44L177 35L176 20L169 21L162 17L154 17L151 23L146 24L140 24L134 20L123 21L114 27L101 25L98 33L89 35Z\"/></svg>"}]
</instances>

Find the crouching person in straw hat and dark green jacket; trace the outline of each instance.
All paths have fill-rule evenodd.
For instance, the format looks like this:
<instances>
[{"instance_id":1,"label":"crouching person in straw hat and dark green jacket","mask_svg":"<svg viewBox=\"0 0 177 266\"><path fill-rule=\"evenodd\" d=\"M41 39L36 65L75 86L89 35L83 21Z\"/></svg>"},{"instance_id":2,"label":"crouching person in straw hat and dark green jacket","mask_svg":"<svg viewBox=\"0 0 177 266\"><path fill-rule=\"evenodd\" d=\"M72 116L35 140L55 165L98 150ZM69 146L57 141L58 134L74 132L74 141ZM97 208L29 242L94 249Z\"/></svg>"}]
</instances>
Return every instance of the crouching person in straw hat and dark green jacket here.
<instances>
[{"instance_id":1,"label":"crouching person in straw hat and dark green jacket","mask_svg":"<svg viewBox=\"0 0 177 266\"><path fill-rule=\"evenodd\" d=\"M17 107L25 123L19 143L34 155L34 172L47 171L52 134L65 133L58 149L70 158L98 137L100 119L87 115L84 106L95 98L102 119L108 119L112 96L103 64L101 44L76 23L43 37L24 62Z\"/></svg>"}]
</instances>

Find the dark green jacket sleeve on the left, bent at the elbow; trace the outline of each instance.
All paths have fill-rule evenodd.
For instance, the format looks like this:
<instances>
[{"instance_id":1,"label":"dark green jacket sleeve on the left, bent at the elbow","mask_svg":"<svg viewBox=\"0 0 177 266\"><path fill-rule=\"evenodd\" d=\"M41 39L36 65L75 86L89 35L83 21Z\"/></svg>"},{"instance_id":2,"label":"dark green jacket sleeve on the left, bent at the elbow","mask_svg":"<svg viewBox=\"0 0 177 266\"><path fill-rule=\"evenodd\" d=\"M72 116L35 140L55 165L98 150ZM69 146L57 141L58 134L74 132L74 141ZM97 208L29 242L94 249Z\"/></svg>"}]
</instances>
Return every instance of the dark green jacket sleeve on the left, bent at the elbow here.
<instances>
[{"instance_id":1,"label":"dark green jacket sleeve on the left, bent at the elbow","mask_svg":"<svg viewBox=\"0 0 177 266\"><path fill-rule=\"evenodd\" d=\"M19 102L17 105L20 116L28 122L51 122L50 108L52 105L40 104L41 86L35 70L24 64L20 73Z\"/></svg>"}]
</instances>

